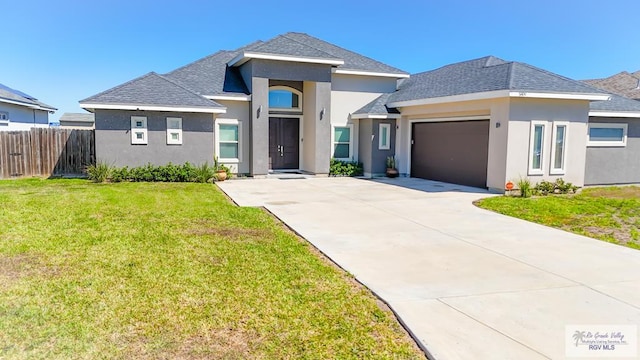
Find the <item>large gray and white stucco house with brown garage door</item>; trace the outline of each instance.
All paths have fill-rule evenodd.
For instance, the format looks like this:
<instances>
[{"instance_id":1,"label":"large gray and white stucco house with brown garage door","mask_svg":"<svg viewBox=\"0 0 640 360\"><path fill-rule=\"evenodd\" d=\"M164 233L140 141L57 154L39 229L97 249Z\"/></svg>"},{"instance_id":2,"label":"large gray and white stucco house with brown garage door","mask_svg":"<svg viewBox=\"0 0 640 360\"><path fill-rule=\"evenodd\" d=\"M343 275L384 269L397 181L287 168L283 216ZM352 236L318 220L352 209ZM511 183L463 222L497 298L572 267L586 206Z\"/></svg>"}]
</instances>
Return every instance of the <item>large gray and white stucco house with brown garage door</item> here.
<instances>
[{"instance_id":1,"label":"large gray and white stucco house with brown garage door","mask_svg":"<svg viewBox=\"0 0 640 360\"><path fill-rule=\"evenodd\" d=\"M396 156L403 176L503 191L521 177L640 182L631 161L640 111L629 101L493 56L409 75L286 33L148 73L80 105L95 114L98 159L119 166L216 156L259 177L326 174L337 158L378 176ZM608 156L616 162L602 164Z\"/></svg>"}]
</instances>

